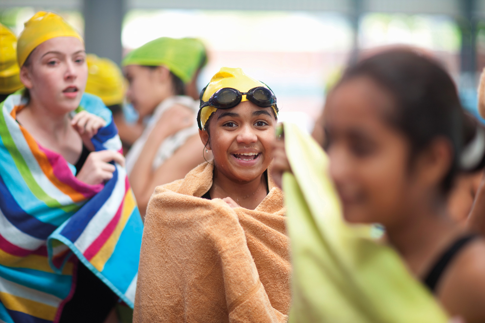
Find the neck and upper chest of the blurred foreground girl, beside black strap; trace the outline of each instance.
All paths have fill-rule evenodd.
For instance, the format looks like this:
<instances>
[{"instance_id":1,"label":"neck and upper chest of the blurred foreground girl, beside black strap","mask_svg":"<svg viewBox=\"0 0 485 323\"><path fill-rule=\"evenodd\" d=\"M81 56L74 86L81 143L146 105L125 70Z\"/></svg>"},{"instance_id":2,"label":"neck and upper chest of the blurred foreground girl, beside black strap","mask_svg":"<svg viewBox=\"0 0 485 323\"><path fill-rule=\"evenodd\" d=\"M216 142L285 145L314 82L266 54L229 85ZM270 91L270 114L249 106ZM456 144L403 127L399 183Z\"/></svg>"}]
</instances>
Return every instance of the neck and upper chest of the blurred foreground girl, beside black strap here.
<instances>
[{"instance_id":1,"label":"neck and upper chest of the blurred foreground girl, beside black strap","mask_svg":"<svg viewBox=\"0 0 485 323\"><path fill-rule=\"evenodd\" d=\"M415 210L405 218L402 223L387 227L386 233L411 272L422 277L461 229L447 216L444 208Z\"/></svg>"}]
</instances>

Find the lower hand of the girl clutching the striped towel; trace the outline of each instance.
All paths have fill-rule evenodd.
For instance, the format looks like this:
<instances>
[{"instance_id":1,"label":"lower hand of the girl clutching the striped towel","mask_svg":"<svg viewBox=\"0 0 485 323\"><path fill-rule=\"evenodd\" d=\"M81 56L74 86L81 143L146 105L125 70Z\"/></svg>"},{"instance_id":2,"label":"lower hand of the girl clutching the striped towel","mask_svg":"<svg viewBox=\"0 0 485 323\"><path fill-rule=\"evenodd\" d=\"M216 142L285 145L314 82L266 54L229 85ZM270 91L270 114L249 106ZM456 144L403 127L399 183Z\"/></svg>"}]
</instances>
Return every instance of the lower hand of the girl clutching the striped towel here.
<instances>
[{"instance_id":1,"label":"lower hand of the girl clutching the striped towel","mask_svg":"<svg viewBox=\"0 0 485 323\"><path fill-rule=\"evenodd\" d=\"M76 175L78 180L88 185L97 185L110 180L116 167L109 162L115 161L125 166L125 157L112 150L92 152Z\"/></svg>"}]
</instances>

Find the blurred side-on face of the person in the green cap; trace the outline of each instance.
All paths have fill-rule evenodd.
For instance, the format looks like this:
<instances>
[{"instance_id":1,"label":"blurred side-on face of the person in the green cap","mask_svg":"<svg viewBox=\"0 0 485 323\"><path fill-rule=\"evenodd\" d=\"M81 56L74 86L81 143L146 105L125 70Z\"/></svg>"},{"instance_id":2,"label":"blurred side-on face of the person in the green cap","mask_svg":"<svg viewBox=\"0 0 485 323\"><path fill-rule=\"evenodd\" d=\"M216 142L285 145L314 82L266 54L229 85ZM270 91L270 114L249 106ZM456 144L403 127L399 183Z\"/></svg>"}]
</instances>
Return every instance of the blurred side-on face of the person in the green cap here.
<instances>
[{"instance_id":1,"label":"blurred side-on face of the person in the green cap","mask_svg":"<svg viewBox=\"0 0 485 323\"><path fill-rule=\"evenodd\" d=\"M128 65L123 72L129 82L127 99L144 118L162 102L162 93L166 92L165 88L161 89L164 82L160 82L160 71L141 65Z\"/></svg>"}]
</instances>

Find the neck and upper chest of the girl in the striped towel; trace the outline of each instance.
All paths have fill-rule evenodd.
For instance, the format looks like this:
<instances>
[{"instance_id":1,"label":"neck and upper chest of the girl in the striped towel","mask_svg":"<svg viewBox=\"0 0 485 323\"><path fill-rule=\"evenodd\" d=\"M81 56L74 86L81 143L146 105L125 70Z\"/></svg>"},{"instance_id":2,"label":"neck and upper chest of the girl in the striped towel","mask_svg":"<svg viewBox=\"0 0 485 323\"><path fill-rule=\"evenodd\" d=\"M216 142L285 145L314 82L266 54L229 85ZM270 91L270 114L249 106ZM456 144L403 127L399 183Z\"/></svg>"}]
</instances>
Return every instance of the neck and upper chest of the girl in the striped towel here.
<instances>
[{"instance_id":1,"label":"neck and upper chest of the girl in the striped towel","mask_svg":"<svg viewBox=\"0 0 485 323\"><path fill-rule=\"evenodd\" d=\"M58 114L54 113L40 103L38 100L32 99L19 112L19 115L25 115L29 119L29 123L39 125L38 129L43 129L46 133L53 134L56 138L65 138L65 134L70 126L70 119L68 113ZM22 117L18 118L22 123Z\"/></svg>"}]
</instances>

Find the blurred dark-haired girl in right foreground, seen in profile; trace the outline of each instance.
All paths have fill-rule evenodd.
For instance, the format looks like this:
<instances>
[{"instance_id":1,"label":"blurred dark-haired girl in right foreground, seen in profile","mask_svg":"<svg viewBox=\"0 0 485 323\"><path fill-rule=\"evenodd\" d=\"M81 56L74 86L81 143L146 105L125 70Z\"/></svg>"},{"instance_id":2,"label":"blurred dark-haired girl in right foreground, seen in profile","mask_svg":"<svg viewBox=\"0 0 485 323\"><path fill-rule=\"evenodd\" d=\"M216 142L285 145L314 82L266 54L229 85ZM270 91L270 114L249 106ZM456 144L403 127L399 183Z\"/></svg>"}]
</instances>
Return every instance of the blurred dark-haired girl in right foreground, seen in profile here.
<instances>
[{"instance_id":1,"label":"blurred dark-haired girl in right foreground, seen in profile","mask_svg":"<svg viewBox=\"0 0 485 323\"><path fill-rule=\"evenodd\" d=\"M463 120L436 62L387 51L349 68L328 96L324 149L344 218L381 223L443 307L473 323L485 320L485 242L446 207L457 171L474 170L484 154L463 156ZM288 170L281 146L275 169Z\"/></svg>"}]
</instances>

